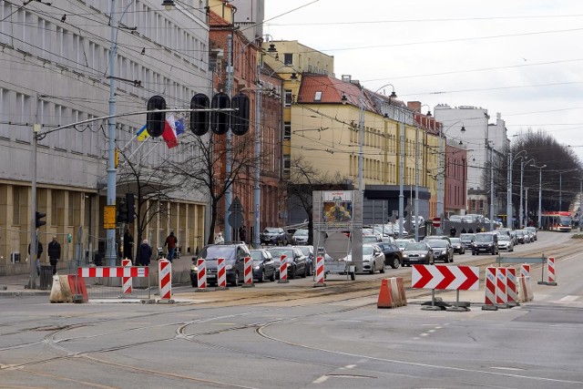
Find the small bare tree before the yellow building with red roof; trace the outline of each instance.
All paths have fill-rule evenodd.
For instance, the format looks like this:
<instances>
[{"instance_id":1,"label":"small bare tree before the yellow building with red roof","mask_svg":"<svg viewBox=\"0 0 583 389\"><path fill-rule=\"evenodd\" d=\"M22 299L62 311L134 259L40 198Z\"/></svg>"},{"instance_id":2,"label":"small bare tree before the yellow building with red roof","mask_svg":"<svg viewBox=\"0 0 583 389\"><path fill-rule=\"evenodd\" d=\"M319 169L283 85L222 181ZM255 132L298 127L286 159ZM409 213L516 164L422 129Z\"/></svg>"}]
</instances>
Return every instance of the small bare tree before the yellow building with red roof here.
<instances>
[{"instance_id":1,"label":"small bare tree before the yellow building with red roof","mask_svg":"<svg viewBox=\"0 0 583 389\"><path fill-rule=\"evenodd\" d=\"M290 203L298 204L305 211L308 219L308 244L313 242L313 204L312 192L314 190L346 190L352 189L351 179L343 177L340 172L332 175L315 168L312 163L298 156L292 159L290 167L290 179L287 184Z\"/></svg>"}]
</instances>

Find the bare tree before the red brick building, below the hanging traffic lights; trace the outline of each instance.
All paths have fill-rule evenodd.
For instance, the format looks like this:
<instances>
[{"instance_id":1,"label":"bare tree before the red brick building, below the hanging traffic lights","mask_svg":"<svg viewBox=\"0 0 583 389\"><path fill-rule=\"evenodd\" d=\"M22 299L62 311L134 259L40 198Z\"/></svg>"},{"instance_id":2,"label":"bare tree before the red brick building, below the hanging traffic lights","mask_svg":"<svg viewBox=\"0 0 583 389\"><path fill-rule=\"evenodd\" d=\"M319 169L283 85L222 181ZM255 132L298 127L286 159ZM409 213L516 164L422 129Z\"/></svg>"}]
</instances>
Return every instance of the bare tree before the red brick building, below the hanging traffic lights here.
<instances>
[{"instance_id":1,"label":"bare tree before the red brick building, below the hanging traffic lights","mask_svg":"<svg viewBox=\"0 0 583 389\"><path fill-rule=\"evenodd\" d=\"M226 136L212 135L198 137L185 133L181 137L180 148L185 152L183 159L168 160L163 170L176 175L185 190L199 190L210 199L210 233L208 243L213 242L213 231L220 220L220 204L228 189L237 183L252 180L255 169L253 137L250 135L231 138L230 174L227 175L226 163L228 149ZM251 172L251 174L250 174Z\"/></svg>"}]
</instances>

